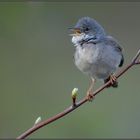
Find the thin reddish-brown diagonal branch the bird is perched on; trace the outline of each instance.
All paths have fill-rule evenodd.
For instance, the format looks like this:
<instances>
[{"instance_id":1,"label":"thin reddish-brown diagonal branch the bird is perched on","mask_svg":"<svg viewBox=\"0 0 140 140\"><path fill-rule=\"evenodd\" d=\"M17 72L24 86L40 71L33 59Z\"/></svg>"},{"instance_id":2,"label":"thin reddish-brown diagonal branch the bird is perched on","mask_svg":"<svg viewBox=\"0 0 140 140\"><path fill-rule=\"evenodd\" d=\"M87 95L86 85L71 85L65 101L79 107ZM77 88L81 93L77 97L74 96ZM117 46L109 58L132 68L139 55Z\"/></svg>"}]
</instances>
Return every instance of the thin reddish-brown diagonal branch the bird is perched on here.
<instances>
[{"instance_id":1,"label":"thin reddish-brown diagonal branch the bird is perched on","mask_svg":"<svg viewBox=\"0 0 140 140\"><path fill-rule=\"evenodd\" d=\"M139 56L140 56L140 49L138 50L136 55L133 57L132 61L128 65L126 65L124 68L122 68L116 74L116 78L118 79L120 76L122 76L132 66L140 64L140 59L138 60ZM92 95L95 97L98 93L100 93L102 90L104 90L110 84L111 84L111 81L108 81L107 83L105 83L104 85L99 87L96 91L94 91ZM84 104L84 103L86 103L88 101L87 97L84 97L83 99L81 99L79 102L76 103L76 93L72 93L72 99L73 99L73 104L70 107L68 107L67 109L65 109L61 113L59 113L59 114L57 114L57 115L55 115L55 116L53 116L53 117L51 117L51 118L49 118L47 120L39 121L38 123L35 123L35 125L33 125L30 129L28 129L23 134L18 136L17 139L26 138L27 136L31 135L33 132L37 131L41 127L44 127L44 126L46 126L46 125L58 120L59 118L64 117L65 115L67 115L68 113L74 111L75 109L77 109L82 104Z\"/></svg>"}]
</instances>

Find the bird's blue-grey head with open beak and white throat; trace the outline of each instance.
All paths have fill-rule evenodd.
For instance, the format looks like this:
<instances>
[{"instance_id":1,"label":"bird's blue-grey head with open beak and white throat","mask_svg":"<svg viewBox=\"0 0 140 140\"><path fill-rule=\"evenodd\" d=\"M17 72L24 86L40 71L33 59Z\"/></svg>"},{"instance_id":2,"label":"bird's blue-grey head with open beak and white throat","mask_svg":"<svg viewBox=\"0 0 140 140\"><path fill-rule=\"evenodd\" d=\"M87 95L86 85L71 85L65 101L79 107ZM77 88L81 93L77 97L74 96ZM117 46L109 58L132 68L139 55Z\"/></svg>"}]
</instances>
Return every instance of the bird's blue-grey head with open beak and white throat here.
<instances>
[{"instance_id":1,"label":"bird's blue-grey head with open beak and white throat","mask_svg":"<svg viewBox=\"0 0 140 140\"><path fill-rule=\"evenodd\" d=\"M72 42L77 45L82 40L90 38L100 39L106 35L103 27L90 17L82 17L78 20L74 28L71 28Z\"/></svg>"}]
</instances>

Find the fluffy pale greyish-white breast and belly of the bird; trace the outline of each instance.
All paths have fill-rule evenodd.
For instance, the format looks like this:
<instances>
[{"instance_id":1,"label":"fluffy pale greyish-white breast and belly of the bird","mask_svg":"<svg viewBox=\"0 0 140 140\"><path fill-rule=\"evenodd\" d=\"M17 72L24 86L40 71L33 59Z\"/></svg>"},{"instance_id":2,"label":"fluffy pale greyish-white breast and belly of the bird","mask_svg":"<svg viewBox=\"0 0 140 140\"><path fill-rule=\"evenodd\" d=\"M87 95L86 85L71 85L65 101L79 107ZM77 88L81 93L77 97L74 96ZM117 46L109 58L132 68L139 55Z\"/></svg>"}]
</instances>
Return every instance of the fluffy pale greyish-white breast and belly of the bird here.
<instances>
[{"instance_id":1,"label":"fluffy pale greyish-white breast and belly of the bird","mask_svg":"<svg viewBox=\"0 0 140 140\"><path fill-rule=\"evenodd\" d=\"M102 44L77 46L75 65L89 76L105 79L116 70L120 61L120 56L111 48Z\"/></svg>"}]
</instances>

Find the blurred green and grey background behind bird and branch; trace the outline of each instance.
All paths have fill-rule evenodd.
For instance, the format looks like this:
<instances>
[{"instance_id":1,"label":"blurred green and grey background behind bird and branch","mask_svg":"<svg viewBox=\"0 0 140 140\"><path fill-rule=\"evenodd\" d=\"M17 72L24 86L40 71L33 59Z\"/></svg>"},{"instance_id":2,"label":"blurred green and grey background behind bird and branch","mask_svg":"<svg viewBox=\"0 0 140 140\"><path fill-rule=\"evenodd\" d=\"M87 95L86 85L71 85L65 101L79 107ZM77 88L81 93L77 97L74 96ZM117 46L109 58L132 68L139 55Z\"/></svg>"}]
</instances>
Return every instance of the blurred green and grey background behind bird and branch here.
<instances>
[{"instance_id":1,"label":"blurred green and grey background behind bird and branch","mask_svg":"<svg viewBox=\"0 0 140 140\"><path fill-rule=\"evenodd\" d=\"M140 48L139 2L1 2L0 138L15 138L85 96L89 77L73 63L68 35L83 16L96 19L124 48L125 64ZM140 138L140 66L92 103L30 138ZM98 81L96 88L102 82Z\"/></svg>"}]
</instances>

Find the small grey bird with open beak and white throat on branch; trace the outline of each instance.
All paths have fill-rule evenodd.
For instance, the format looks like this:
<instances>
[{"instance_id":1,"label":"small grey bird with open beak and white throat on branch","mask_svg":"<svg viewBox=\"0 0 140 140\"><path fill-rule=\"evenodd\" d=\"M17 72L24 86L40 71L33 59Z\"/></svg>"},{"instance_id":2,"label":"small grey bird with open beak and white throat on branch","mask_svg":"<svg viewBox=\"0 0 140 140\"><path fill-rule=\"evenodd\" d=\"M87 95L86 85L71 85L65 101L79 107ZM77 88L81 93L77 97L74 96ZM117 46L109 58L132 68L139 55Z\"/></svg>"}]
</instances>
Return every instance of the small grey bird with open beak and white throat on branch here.
<instances>
[{"instance_id":1,"label":"small grey bird with open beak and white throat on branch","mask_svg":"<svg viewBox=\"0 0 140 140\"><path fill-rule=\"evenodd\" d=\"M82 17L70 30L72 43L76 46L75 65L92 80L87 98L93 98L91 92L96 79L101 79L104 83L110 80L109 87L118 87L114 73L124 62L118 42L90 17Z\"/></svg>"}]
</instances>

